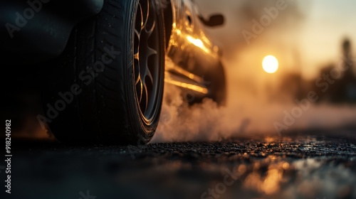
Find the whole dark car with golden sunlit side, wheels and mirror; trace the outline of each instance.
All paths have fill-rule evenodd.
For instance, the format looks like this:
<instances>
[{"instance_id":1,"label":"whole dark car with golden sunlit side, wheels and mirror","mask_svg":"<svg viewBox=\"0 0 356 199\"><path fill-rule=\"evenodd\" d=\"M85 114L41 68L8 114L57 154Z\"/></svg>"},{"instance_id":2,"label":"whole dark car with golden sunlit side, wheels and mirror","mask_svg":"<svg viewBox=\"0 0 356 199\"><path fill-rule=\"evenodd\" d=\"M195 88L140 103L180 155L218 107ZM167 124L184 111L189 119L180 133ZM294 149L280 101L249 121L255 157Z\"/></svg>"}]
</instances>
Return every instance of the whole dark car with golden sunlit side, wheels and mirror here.
<instances>
[{"instance_id":1,"label":"whole dark car with golden sunlit side, wheels and mirror","mask_svg":"<svg viewBox=\"0 0 356 199\"><path fill-rule=\"evenodd\" d=\"M204 18L194 1L5 0L0 21L9 65L46 71L37 118L60 141L147 143L164 82L224 104L219 48L204 33L224 17Z\"/></svg>"}]
</instances>

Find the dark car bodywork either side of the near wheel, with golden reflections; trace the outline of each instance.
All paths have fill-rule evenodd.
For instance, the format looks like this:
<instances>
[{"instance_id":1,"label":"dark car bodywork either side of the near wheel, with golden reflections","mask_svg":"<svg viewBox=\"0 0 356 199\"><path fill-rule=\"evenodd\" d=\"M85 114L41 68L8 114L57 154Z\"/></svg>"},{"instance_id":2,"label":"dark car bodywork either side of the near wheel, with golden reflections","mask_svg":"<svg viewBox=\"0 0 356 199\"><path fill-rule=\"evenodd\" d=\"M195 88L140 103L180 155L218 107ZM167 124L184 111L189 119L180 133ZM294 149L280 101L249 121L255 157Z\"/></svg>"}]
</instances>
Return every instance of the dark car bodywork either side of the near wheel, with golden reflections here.
<instances>
[{"instance_id":1,"label":"dark car bodywork either side of the near wheel, with golden reflections","mask_svg":"<svg viewBox=\"0 0 356 199\"><path fill-rule=\"evenodd\" d=\"M162 1L167 55L166 82L203 95L204 77L219 65L219 48L204 33L204 21L193 1ZM56 58L66 48L73 27L95 17L103 0L4 0L0 3L0 52L8 65ZM182 84L184 82L184 84Z\"/></svg>"}]
</instances>

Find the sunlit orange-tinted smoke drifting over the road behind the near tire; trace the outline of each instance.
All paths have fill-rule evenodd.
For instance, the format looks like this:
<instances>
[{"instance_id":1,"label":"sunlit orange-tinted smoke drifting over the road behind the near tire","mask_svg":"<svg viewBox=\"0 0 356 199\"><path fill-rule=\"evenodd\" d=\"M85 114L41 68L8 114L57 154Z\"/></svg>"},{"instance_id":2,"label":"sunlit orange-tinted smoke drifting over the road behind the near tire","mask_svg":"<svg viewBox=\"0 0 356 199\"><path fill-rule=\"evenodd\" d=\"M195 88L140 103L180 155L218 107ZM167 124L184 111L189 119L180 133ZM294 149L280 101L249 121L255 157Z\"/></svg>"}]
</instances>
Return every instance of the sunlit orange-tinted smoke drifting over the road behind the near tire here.
<instances>
[{"instance_id":1,"label":"sunlit orange-tinted smoke drifting over the road behind the near tire","mask_svg":"<svg viewBox=\"0 0 356 199\"><path fill-rule=\"evenodd\" d=\"M166 64L174 63L168 60ZM161 120L151 142L221 141L233 137L283 136L293 130L330 129L356 123L356 107L310 104L301 117L295 118L295 123L288 130L278 134L273 124L283 124L283 118L286 117L284 112L290 112L298 104L292 100L271 102L265 92L246 92L261 85L241 85L239 77L243 75L236 75L240 72L238 68L229 66L229 72L226 72L229 97L225 107L218 107L211 99L189 106L182 98L181 90L165 85Z\"/></svg>"}]
</instances>

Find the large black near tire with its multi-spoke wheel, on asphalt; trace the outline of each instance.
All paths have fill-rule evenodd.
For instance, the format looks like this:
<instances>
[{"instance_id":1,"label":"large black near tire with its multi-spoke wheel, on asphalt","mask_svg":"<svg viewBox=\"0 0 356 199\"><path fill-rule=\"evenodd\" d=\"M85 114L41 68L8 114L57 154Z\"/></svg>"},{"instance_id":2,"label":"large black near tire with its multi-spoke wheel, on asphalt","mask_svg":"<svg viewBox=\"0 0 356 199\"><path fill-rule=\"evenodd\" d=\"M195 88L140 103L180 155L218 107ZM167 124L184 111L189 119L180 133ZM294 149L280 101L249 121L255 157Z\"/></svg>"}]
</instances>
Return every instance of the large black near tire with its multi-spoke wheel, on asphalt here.
<instances>
[{"instance_id":1,"label":"large black near tire with its multi-spoke wheel, on asphalt","mask_svg":"<svg viewBox=\"0 0 356 199\"><path fill-rule=\"evenodd\" d=\"M44 117L70 144L146 144L164 86L164 23L155 0L105 0L46 65Z\"/></svg>"}]
</instances>

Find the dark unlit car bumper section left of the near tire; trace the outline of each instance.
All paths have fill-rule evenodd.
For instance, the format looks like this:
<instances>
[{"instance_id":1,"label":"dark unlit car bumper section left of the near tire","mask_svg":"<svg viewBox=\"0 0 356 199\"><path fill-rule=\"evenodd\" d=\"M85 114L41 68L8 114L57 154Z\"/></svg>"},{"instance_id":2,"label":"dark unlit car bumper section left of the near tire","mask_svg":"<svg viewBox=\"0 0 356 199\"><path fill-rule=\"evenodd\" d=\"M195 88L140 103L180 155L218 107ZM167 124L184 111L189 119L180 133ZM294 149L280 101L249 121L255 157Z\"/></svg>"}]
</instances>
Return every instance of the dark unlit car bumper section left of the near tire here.
<instances>
[{"instance_id":1,"label":"dark unlit car bumper section left of the near tire","mask_svg":"<svg viewBox=\"0 0 356 199\"><path fill-rule=\"evenodd\" d=\"M98 14L102 6L103 0L1 1L1 54L11 65L55 58L75 24Z\"/></svg>"}]
</instances>

